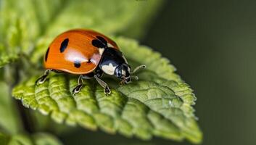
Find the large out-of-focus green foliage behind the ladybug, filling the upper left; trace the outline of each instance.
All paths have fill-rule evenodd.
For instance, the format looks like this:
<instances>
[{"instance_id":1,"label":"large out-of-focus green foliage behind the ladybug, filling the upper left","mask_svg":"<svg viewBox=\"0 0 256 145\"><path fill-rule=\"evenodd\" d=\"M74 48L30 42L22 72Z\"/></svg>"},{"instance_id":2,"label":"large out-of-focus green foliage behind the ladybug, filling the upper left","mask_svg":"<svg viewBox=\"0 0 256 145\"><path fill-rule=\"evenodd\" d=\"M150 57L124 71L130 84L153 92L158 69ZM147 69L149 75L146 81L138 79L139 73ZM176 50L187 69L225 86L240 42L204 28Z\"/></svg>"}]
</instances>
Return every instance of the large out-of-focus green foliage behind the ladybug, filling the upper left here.
<instances>
[{"instance_id":1,"label":"large out-of-focus green foliage behind the ladybug, filling the upper left","mask_svg":"<svg viewBox=\"0 0 256 145\"><path fill-rule=\"evenodd\" d=\"M162 0L144 4L119 0L1 0L0 67L32 51L40 52L31 57L33 62L38 62L38 56L53 38L72 28L118 33L135 24L136 29L131 30L136 33L144 28L143 24L160 4ZM141 14L141 9L147 11Z\"/></svg>"}]
</instances>

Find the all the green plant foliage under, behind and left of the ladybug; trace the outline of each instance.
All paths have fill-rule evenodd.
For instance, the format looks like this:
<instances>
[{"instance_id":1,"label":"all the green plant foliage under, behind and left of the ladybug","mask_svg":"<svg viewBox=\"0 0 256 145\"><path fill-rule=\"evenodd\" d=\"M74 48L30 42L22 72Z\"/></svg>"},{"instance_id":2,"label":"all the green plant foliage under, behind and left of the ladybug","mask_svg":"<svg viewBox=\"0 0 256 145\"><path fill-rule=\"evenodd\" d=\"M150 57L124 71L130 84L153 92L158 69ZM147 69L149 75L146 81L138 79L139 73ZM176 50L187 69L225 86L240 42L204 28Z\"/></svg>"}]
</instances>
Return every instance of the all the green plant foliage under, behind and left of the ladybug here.
<instances>
[{"instance_id":1,"label":"all the green plant foliage under, behind and left of the ladybug","mask_svg":"<svg viewBox=\"0 0 256 145\"><path fill-rule=\"evenodd\" d=\"M144 140L158 136L200 143L202 132L192 107L196 97L189 85L168 59L123 37L141 36L161 5L160 0L0 0L0 143L60 144L48 134L24 133L10 90L25 107L57 123ZM77 77L67 74L52 73L44 84L35 86L36 70L49 43L73 28L115 36L131 66L143 64L146 70L138 72L138 81L125 86L105 77L112 89L110 96L104 95L95 80L85 80L82 91L72 96Z\"/></svg>"}]
</instances>

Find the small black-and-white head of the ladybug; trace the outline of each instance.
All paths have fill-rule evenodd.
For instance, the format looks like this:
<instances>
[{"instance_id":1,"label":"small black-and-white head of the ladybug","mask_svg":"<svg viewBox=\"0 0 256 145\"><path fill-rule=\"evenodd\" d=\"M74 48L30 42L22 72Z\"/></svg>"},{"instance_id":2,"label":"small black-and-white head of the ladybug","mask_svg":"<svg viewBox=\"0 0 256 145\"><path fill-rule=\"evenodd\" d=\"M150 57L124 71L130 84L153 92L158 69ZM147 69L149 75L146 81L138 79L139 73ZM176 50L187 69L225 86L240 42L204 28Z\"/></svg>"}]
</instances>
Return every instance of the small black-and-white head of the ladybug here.
<instances>
[{"instance_id":1,"label":"small black-and-white head of the ladybug","mask_svg":"<svg viewBox=\"0 0 256 145\"><path fill-rule=\"evenodd\" d=\"M123 63L115 69L115 76L124 81L124 83L131 83L131 67Z\"/></svg>"}]
</instances>

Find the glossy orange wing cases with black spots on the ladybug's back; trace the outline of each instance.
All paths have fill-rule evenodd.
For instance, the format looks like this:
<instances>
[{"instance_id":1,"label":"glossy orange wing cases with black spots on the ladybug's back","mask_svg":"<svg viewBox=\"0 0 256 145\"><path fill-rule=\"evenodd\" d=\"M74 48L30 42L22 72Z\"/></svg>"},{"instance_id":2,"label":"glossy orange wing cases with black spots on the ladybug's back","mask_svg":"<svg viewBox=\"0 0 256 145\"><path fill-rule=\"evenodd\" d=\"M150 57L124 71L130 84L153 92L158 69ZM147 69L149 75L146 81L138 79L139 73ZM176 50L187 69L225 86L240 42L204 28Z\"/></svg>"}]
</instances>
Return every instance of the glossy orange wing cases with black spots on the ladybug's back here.
<instances>
[{"instance_id":1,"label":"glossy orange wing cases with black spots on the ladybug's back","mask_svg":"<svg viewBox=\"0 0 256 145\"><path fill-rule=\"evenodd\" d=\"M113 49L119 49L114 41L94 30L68 30L51 42L44 56L44 67L72 74L94 71L102 54L92 43L99 37L104 38Z\"/></svg>"}]
</instances>

